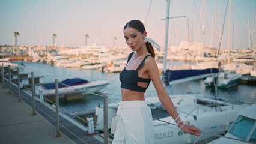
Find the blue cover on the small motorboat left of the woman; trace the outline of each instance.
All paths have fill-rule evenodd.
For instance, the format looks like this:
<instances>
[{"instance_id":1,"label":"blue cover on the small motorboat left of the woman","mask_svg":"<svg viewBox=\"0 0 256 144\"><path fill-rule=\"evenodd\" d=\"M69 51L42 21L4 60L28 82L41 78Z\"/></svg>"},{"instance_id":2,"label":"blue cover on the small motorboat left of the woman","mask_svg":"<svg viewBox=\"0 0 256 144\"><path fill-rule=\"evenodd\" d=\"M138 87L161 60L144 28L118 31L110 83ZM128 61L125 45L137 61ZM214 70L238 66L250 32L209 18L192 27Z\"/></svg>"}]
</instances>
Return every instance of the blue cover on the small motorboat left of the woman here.
<instances>
[{"instance_id":1,"label":"blue cover on the small motorboat left of the woman","mask_svg":"<svg viewBox=\"0 0 256 144\"><path fill-rule=\"evenodd\" d=\"M63 80L62 82L58 83L58 87L59 88L64 88L67 87L67 85L69 86L75 86L75 85L82 85L84 83L88 83L89 81L84 80L84 79L80 79L80 78L74 78L74 79L66 79ZM62 84L63 83L63 84ZM43 85L44 89L55 89L55 83L53 84L48 84L48 85Z\"/></svg>"}]
</instances>

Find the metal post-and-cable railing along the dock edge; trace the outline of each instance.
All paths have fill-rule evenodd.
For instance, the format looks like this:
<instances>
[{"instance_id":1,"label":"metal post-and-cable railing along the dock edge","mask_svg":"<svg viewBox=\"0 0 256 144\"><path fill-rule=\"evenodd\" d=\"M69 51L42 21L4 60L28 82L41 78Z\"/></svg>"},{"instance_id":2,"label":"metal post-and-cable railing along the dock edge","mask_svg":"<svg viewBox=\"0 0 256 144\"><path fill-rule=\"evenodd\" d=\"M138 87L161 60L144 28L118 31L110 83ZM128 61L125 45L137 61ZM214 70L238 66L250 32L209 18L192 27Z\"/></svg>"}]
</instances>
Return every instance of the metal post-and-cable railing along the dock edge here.
<instances>
[{"instance_id":1,"label":"metal post-and-cable railing along the dock edge","mask_svg":"<svg viewBox=\"0 0 256 144\"><path fill-rule=\"evenodd\" d=\"M2 74L2 84L3 84L3 88L5 86L5 76L4 76L4 67L2 65L2 70L1 70L1 74ZM35 85L34 85L34 73L31 72L31 78L32 78L32 88L28 88L26 86L23 86L25 89L30 89L31 90L31 103L32 103L32 115L35 115ZM13 83L11 82L13 81L14 83L17 83L17 89L14 89L12 87ZM43 101L41 99L40 102L41 103L44 103L44 100L48 101L49 103L52 103L52 104L55 104L55 112L56 112L56 118L55 118L55 122L56 122L56 133L55 133L55 137L59 137L60 136L60 131L59 131L59 125L61 125L62 127L64 127L64 125L60 124L59 123L59 109L64 109L63 107L60 107L59 106L59 91L58 91L58 83L62 84L62 85L66 85L64 83L61 83L61 82L58 82L58 79L55 79L55 103L53 103L52 101L50 101L49 99L47 99L46 97L43 97ZM69 86L69 85L66 85L66 86ZM100 95L100 94L96 94L94 92L90 92L90 91L85 91L84 89L79 89L79 88L75 88L73 86L69 86L69 87L72 87L76 90L79 90L81 92L86 92L87 94L93 94L93 95L97 95L99 97L103 97L103 109L104 109L104 129L100 129L99 130L102 130L103 133L104 133L104 144L107 144L108 143L108 137L109 136L113 136L112 134L109 134L108 133L108 103L109 103L109 100L114 102L115 104L119 105L118 103L116 103L115 101L111 100L111 98L108 97L108 92L103 92L103 95ZM11 80L11 71L10 71L10 66L8 66L8 88L9 88L9 92L11 93L11 91L15 91L17 94L18 94L18 102L21 102L21 95L20 95L20 70L19 68L17 68L17 81L16 80ZM26 97L23 97L25 99L27 99ZM27 99L28 100L28 99ZM29 101L29 100L28 100ZM195 107L195 109L198 109L199 107ZM37 107L37 109L40 109L40 107ZM193 109L190 113L192 113L195 109ZM41 109L40 109L41 110ZM44 112L43 110L41 110L42 112ZM44 112L46 115L47 113ZM190 113L187 114L190 115ZM49 116L49 115L48 115ZM85 119L79 117L78 115L74 114L74 116L78 119L80 119L81 121L84 121L86 122L88 125L91 125L92 127L94 128L97 128L97 125L94 125L94 124L91 124L90 121L86 121ZM52 118L51 116L49 116L50 118ZM53 118L52 118L53 119ZM160 122L165 122L166 124L170 124L170 125L175 125L176 124L172 124L171 122L166 122L166 121L163 121L161 119L157 119L157 118L153 118L154 120L156 121L160 121ZM64 127L66 130L68 130L70 133L72 133L72 131L70 131L68 128ZM178 128L177 128L178 129ZM225 136L221 136L221 135L218 135L218 134L213 134L213 133L209 133L209 132L204 132L204 131L201 131L202 134L209 134L211 136L215 136L215 137L224 137L226 139L232 139L232 140L238 140L238 141L241 141L241 142L246 142L244 140L239 140L239 139L234 139L234 138L231 138L231 137L225 137ZM76 134L72 133L74 136L76 136ZM78 137L78 136L76 136ZM114 137L114 136L113 136ZM82 140L81 138L78 137L78 139L80 139L82 142L84 142L84 140ZM197 140L194 142L196 143ZM84 142L84 143L87 143L87 142ZM246 143L250 143L250 142L246 142Z\"/></svg>"}]
</instances>

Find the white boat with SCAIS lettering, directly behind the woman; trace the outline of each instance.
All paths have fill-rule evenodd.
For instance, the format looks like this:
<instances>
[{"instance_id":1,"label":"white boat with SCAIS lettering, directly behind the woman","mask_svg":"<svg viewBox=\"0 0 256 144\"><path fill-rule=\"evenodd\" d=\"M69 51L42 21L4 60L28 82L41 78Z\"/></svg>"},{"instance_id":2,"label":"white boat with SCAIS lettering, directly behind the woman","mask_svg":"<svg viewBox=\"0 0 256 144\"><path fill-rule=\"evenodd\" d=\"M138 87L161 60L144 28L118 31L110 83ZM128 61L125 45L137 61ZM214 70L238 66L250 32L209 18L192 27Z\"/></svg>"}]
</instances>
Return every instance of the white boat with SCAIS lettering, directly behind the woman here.
<instances>
[{"instance_id":1,"label":"white boat with SCAIS lettering, directly behind the woman","mask_svg":"<svg viewBox=\"0 0 256 144\"><path fill-rule=\"evenodd\" d=\"M248 104L228 103L225 100L215 100L197 94L174 95L171 98L178 114L187 125L196 125L202 131L215 134L225 133L236 120L239 110L249 106ZM177 128L158 97L146 98L146 101L148 106L151 107L154 119L154 140L156 144L187 144L197 140L197 136L191 136ZM117 113L117 108L116 103L109 104L109 128L111 127L111 119ZM96 117L97 128L103 129L103 107L96 108ZM198 140L203 139L204 137L199 137Z\"/></svg>"}]
</instances>

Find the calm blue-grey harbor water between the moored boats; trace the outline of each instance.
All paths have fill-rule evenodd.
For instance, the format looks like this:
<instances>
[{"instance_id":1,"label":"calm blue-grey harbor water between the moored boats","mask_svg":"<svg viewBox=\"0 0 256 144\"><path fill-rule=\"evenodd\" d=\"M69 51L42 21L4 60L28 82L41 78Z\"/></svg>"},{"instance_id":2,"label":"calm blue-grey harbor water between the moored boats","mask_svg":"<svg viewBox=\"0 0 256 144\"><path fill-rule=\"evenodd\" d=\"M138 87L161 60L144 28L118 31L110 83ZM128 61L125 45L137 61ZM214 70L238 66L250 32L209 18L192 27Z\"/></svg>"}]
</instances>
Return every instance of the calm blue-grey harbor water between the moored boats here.
<instances>
[{"instance_id":1,"label":"calm blue-grey harbor water between the moored boats","mask_svg":"<svg viewBox=\"0 0 256 144\"><path fill-rule=\"evenodd\" d=\"M111 99L109 100L109 103L112 103L113 101L121 101L121 83L119 80L119 73L102 73L102 71L88 71L78 68L54 67L53 65L35 62L17 61L15 63L19 64L19 67L22 67L23 71L21 73L34 72L34 77L41 77L40 83L53 83L55 79L58 79L59 82L61 82L62 80L75 77L79 77L85 80L109 80L109 85L101 89L97 94L108 92L109 98ZM168 64L172 67L174 65L184 65L185 62L169 61ZM204 94L212 97L216 96L215 89L205 88L204 79L168 86L166 87L166 92L168 92L169 95ZM239 85L233 86L232 88L218 89L217 94L219 98L225 98L231 101L256 101L256 86L239 83ZM157 97L157 92L154 89L152 82L145 92L145 97ZM82 100L59 100L59 105L69 113L91 110L96 106L99 106L99 104L103 104L103 98L93 94L83 95Z\"/></svg>"}]
</instances>

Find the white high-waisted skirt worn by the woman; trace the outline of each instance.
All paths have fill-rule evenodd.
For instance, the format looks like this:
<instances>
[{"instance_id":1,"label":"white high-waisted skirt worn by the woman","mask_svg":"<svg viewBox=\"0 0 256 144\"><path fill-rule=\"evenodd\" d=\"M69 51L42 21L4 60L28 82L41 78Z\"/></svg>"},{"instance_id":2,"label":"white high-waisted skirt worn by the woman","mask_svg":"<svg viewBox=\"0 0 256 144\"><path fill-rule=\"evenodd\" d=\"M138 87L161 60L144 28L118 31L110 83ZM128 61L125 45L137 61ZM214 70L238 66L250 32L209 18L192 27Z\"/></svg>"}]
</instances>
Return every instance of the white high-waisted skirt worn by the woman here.
<instances>
[{"instance_id":1,"label":"white high-waisted skirt worn by the woman","mask_svg":"<svg viewBox=\"0 0 256 144\"><path fill-rule=\"evenodd\" d=\"M112 144L153 144L154 125L146 101L121 101Z\"/></svg>"}]
</instances>

